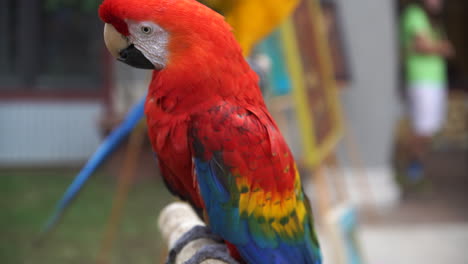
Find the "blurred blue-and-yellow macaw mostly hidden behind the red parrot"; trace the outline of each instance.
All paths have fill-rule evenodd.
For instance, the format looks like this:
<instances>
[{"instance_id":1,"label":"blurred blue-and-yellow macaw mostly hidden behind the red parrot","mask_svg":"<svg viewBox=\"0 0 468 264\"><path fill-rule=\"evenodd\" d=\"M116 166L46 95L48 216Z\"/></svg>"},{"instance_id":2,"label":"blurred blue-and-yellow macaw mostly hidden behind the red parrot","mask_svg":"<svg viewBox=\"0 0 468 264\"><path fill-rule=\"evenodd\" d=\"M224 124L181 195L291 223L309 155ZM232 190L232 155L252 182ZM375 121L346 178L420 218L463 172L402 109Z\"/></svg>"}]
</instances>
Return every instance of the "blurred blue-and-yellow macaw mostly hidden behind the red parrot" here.
<instances>
[{"instance_id":1,"label":"blurred blue-and-yellow macaw mostly hidden behind the red parrot","mask_svg":"<svg viewBox=\"0 0 468 264\"><path fill-rule=\"evenodd\" d=\"M253 46L269 34L297 5L298 0L199 0L199 2L219 11L226 16L233 27L244 55L248 55ZM95 170L106 160L121 142L144 118L144 100L140 100L127 114L126 119L104 140L91 156L73 183L57 203L52 216L42 230L48 233L60 221L65 209L78 195Z\"/></svg>"}]
</instances>

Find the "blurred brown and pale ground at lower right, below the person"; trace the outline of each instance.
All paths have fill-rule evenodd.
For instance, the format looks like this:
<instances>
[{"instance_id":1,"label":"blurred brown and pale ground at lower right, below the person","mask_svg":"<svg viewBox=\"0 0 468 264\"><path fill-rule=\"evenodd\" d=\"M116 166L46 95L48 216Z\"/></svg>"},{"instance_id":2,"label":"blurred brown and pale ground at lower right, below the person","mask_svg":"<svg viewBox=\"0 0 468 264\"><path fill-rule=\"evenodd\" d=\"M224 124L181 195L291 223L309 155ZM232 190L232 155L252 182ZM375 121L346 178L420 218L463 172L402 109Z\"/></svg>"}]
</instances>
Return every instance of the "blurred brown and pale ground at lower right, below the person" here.
<instances>
[{"instance_id":1,"label":"blurred brown and pale ground at lower right, below the person","mask_svg":"<svg viewBox=\"0 0 468 264\"><path fill-rule=\"evenodd\" d=\"M424 188L385 214L363 214L360 244L368 264L468 263L468 152L437 151Z\"/></svg>"}]
</instances>

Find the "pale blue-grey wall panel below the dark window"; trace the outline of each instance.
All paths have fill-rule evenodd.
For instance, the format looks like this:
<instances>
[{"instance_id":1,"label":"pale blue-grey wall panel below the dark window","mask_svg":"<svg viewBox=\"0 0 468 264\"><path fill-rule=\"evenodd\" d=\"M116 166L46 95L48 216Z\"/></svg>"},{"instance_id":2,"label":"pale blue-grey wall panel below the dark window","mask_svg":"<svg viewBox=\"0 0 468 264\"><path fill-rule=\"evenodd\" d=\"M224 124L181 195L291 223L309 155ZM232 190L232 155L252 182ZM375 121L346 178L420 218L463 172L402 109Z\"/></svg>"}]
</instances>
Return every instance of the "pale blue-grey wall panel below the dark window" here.
<instances>
[{"instance_id":1,"label":"pale blue-grey wall panel below the dark window","mask_svg":"<svg viewBox=\"0 0 468 264\"><path fill-rule=\"evenodd\" d=\"M84 102L0 102L0 166L85 161L100 142L102 106Z\"/></svg>"}]
</instances>

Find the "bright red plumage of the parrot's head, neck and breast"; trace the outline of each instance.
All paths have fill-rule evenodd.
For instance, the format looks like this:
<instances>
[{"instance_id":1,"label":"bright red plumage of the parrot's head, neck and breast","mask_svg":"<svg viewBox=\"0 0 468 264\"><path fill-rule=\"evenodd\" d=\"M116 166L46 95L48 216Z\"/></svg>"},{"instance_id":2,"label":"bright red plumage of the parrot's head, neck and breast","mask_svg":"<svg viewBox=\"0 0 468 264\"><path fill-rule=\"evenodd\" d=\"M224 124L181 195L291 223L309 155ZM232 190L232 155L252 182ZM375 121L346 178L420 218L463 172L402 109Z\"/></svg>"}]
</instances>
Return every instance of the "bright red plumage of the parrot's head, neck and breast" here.
<instances>
[{"instance_id":1,"label":"bright red plumage of the parrot's head, neck and breast","mask_svg":"<svg viewBox=\"0 0 468 264\"><path fill-rule=\"evenodd\" d=\"M196 207L203 208L193 178L190 142L187 138L191 117L207 112L219 102L229 101L239 106L239 109L254 109L260 119L273 124L270 117L264 114L267 111L258 88L258 76L242 56L234 35L226 34L231 31L231 27L224 18L197 1L105 0L99 14L124 35L126 28L123 23L126 20L153 21L169 32L169 61L165 69L153 73L146 102L149 135L170 188ZM246 112L242 110L237 114L242 116ZM239 118L233 125L268 133L257 123L243 122ZM225 124L219 119L215 125L222 127ZM233 135L217 135L216 127L212 131L212 135L205 136L232 138L223 146L228 149L248 149L265 136L258 134L237 139ZM217 147L220 146L209 146L210 149ZM229 158L233 162L240 162L245 157ZM252 154L245 166L258 168L261 161ZM268 168L263 170L265 173L271 172ZM265 187L271 187L271 183L266 180L259 182Z\"/></svg>"}]
</instances>

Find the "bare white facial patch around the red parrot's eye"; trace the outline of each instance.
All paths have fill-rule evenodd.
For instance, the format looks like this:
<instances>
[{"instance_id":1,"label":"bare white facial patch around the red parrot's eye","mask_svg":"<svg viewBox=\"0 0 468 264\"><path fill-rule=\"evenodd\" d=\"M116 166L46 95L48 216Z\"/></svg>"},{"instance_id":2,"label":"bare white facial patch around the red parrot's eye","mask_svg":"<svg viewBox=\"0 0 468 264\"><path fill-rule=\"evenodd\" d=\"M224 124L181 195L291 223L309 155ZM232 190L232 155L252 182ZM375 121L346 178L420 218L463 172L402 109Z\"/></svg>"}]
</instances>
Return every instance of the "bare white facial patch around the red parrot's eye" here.
<instances>
[{"instance_id":1,"label":"bare white facial patch around the red parrot's eye","mask_svg":"<svg viewBox=\"0 0 468 264\"><path fill-rule=\"evenodd\" d=\"M153 22L127 20L130 43L135 45L157 69L166 67L169 33Z\"/></svg>"}]
</instances>

